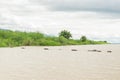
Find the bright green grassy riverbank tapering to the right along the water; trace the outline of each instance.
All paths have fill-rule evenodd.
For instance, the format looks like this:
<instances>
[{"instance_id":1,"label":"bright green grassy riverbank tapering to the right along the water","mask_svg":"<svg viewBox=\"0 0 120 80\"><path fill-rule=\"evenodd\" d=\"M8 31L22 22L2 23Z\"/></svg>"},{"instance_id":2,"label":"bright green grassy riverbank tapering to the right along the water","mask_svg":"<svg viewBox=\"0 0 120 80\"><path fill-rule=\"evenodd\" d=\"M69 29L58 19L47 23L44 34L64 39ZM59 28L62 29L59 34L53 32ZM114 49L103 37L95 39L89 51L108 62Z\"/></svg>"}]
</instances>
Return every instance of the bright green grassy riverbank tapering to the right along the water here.
<instances>
[{"instance_id":1,"label":"bright green grassy riverbank tapering to the right along the water","mask_svg":"<svg viewBox=\"0 0 120 80\"><path fill-rule=\"evenodd\" d=\"M0 47L13 46L61 46L82 44L106 44L106 41L74 40L63 36L46 36L39 32L20 32L11 30L0 30Z\"/></svg>"}]
</instances>

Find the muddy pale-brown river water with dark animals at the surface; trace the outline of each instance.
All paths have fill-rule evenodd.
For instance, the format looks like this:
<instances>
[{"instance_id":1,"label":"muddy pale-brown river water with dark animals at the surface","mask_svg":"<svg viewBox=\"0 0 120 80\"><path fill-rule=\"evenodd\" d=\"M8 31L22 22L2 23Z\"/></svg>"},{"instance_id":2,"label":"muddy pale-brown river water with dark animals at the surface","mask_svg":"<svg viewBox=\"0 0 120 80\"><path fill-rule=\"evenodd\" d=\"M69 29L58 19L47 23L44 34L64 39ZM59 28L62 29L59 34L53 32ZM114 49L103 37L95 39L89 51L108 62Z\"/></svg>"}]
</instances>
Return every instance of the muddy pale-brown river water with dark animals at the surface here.
<instances>
[{"instance_id":1,"label":"muddy pale-brown river water with dark animals at the surface","mask_svg":"<svg viewBox=\"0 0 120 80\"><path fill-rule=\"evenodd\" d=\"M120 45L0 48L0 80L120 80Z\"/></svg>"}]
</instances>

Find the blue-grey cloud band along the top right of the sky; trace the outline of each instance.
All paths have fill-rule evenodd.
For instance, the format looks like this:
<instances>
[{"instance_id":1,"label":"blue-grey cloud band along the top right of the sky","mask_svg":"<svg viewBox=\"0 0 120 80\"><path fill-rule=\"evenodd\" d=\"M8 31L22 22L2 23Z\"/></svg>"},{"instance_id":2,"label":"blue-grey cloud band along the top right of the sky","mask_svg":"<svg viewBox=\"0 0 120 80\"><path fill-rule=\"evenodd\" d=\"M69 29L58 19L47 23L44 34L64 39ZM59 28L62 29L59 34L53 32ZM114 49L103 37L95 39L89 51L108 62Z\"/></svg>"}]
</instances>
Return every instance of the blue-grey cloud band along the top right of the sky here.
<instances>
[{"instance_id":1,"label":"blue-grey cloud band along the top right of the sky","mask_svg":"<svg viewBox=\"0 0 120 80\"><path fill-rule=\"evenodd\" d=\"M31 0L55 11L120 12L120 0Z\"/></svg>"}]
</instances>

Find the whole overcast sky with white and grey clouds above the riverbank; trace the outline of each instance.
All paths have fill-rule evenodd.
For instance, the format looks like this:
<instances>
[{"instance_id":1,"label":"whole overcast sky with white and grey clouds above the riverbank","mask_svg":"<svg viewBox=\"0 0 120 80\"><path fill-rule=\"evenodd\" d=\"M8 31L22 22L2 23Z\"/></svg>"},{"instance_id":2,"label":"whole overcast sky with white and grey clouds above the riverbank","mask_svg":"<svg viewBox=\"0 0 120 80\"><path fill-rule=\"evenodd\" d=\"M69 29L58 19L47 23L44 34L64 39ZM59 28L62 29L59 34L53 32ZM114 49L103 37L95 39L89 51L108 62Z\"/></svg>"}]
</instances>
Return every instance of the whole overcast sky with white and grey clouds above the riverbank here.
<instances>
[{"instance_id":1,"label":"whole overcast sky with white and grey clouds above the riverbank","mask_svg":"<svg viewBox=\"0 0 120 80\"><path fill-rule=\"evenodd\" d=\"M0 0L0 28L120 43L120 0Z\"/></svg>"}]
</instances>

